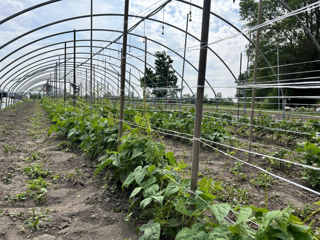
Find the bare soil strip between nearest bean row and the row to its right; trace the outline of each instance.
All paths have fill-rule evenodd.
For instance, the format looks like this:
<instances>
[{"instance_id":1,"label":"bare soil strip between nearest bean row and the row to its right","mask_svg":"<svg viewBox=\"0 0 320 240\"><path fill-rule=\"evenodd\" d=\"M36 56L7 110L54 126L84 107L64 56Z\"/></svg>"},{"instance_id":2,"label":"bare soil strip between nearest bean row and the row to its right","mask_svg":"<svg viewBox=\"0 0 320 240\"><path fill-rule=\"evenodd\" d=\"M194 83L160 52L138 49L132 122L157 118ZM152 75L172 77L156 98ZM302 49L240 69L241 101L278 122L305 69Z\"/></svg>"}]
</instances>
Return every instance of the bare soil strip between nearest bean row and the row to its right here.
<instances>
[{"instance_id":1,"label":"bare soil strip between nearest bean row and the row to its right","mask_svg":"<svg viewBox=\"0 0 320 240\"><path fill-rule=\"evenodd\" d=\"M163 141L166 145L167 151L174 152L177 160L184 159L185 163L189 164L189 167L191 167L191 141L181 142L179 139L168 137L164 138ZM227 152L228 150L227 148L217 148L219 148L219 150L222 150L223 152ZM229 149L229 151L233 151L233 149ZM246 161L247 159L247 155L244 152L240 151L236 153L235 157L243 161ZM199 176L199 180L204 176L218 180L222 173L223 166L226 163L226 161L228 161L228 159L228 156L225 156L224 154L215 151L213 148L202 146L199 159L199 173L201 173L201 175ZM243 164L243 169L241 170L241 172L246 174L247 178L244 180L234 179L229 169L235 166L235 162L235 159L231 159L227 162L225 171L223 172L221 179L225 180L225 184L228 186L234 186L236 189L243 188L245 190L248 190L249 196L247 197L248 202L246 204L264 207L265 188L257 188L249 182L253 177L256 177L261 171L252 166ZM268 162L265 159L262 159L261 156L257 155L252 155L251 163L260 166L263 169L266 169L269 166ZM299 175L299 172L301 172L301 167L299 166L292 165L289 168L283 167L281 169L271 167L269 172L272 172L287 180L290 180L292 182L298 183L302 186L306 186L312 189L308 182L301 179ZM293 184L290 184L282 180L278 180L275 177L272 177L272 180L275 180L275 182L272 182L272 184L268 187L267 190L267 208L269 210L284 209L289 204L292 204L292 207L297 207L303 210L305 206L304 204L310 204L312 206L313 203L316 203L320 200L320 197L318 195L306 191L297 186L294 186ZM314 190L318 191L319 189ZM227 197L224 198L224 200L227 200ZM315 208L316 206L313 205L313 207ZM313 227L319 227L319 214L315 216L315 218L316 221Z\"/></svg>"}]
</instances>

